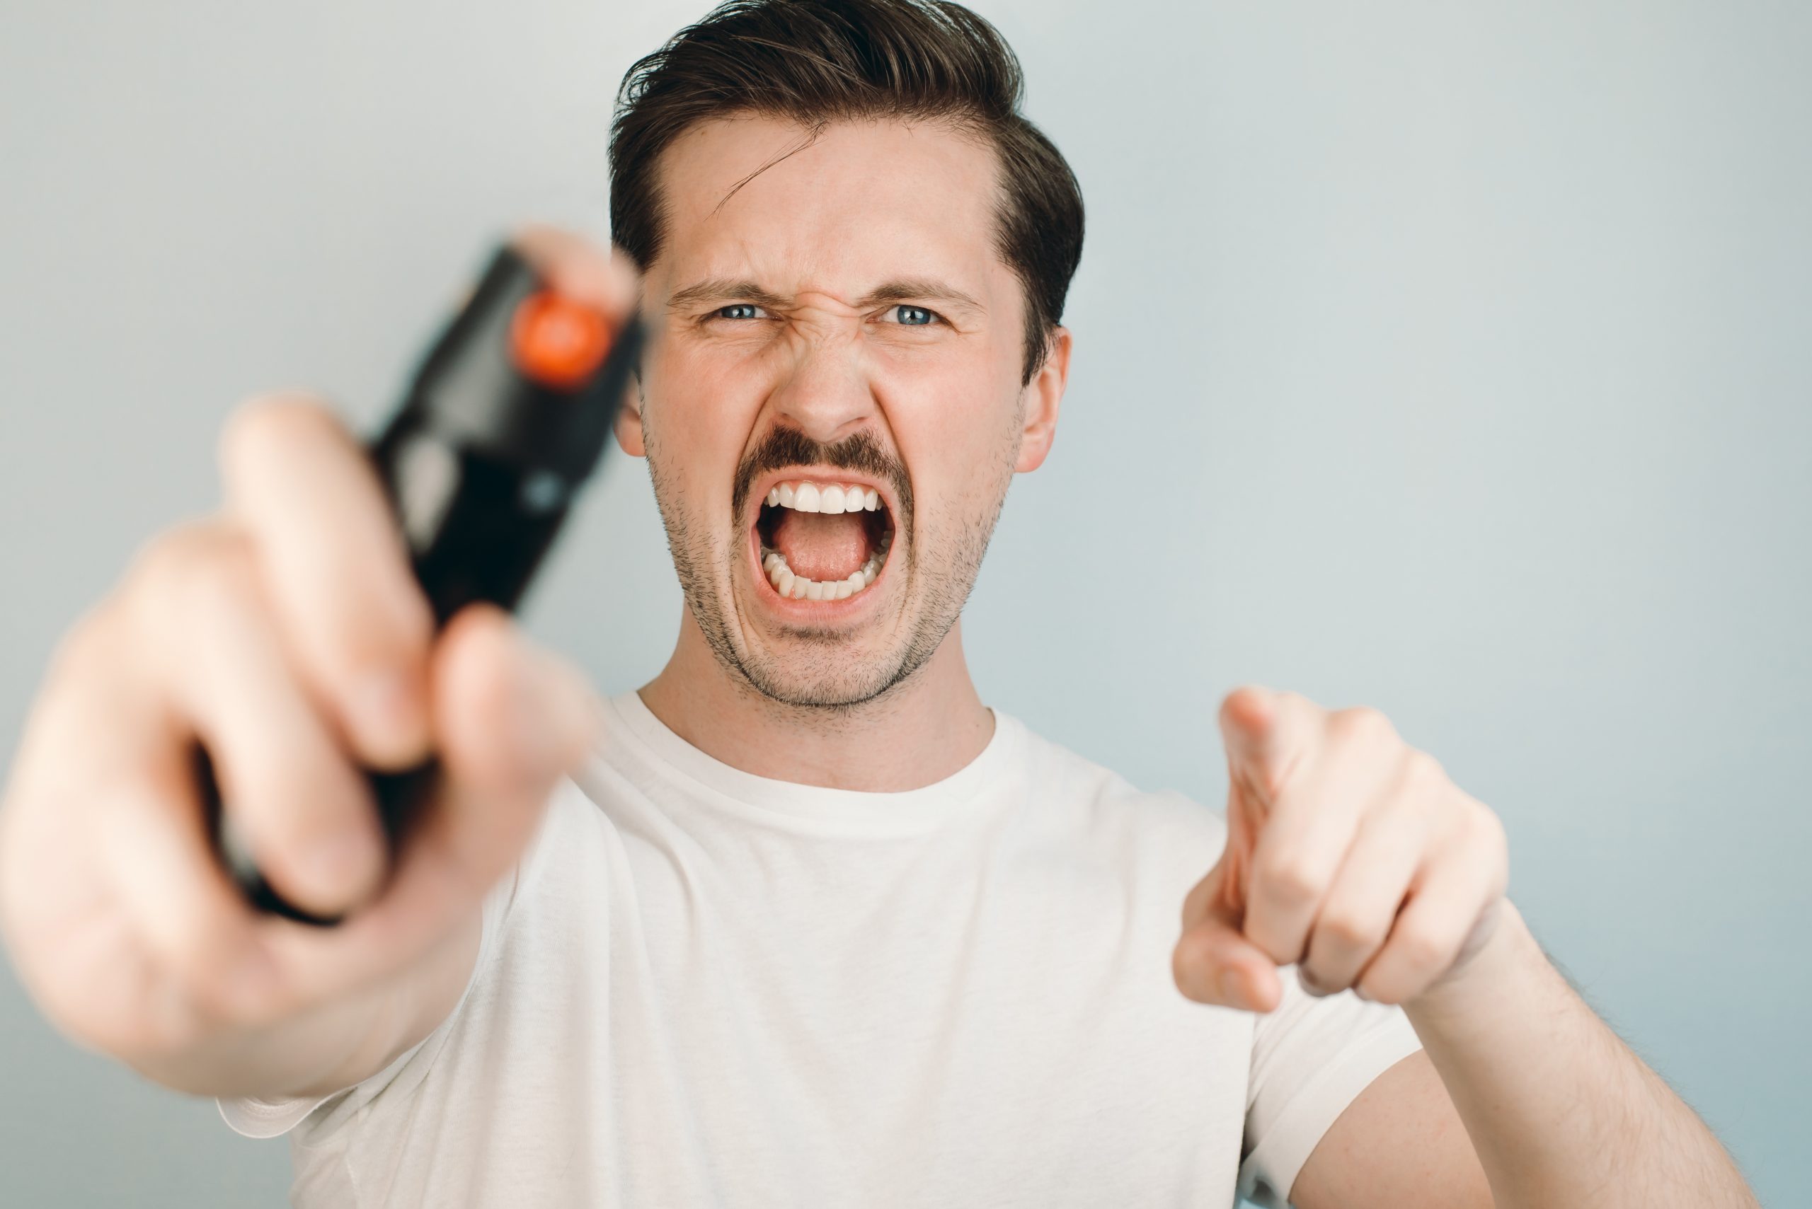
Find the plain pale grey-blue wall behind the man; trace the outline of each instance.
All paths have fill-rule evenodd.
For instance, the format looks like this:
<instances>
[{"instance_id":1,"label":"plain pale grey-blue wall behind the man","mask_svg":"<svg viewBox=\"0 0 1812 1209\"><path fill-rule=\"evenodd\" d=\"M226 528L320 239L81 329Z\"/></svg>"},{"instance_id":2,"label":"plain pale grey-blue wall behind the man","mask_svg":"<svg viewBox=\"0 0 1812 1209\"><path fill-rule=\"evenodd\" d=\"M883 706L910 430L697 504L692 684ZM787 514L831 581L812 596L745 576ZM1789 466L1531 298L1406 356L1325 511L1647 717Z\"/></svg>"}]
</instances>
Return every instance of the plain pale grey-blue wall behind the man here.
<instances>
[{"instance_id":1,"label":"plain pale grey-blue wall behind the man","mask_svg":"<svg viewBox=\"0 0 1812 1209\"><path fill-rule=\"evenodd\" d=\"M1765 1202L1812 1184L1812 9L978 5L1082 177L1075 378L968 612L986 699L1219 805L1214 706L1370 702ZM370 422L518 217L602 233L611 96L698 4L24 4L0 29L0 751L53 639L214 500L214 433ZM622 690L678 588L616 460L531 626ZM0 963L4 965L4 963ZM0 1202L279 1204L0 974Z\"/></svg>"}]
</instances>

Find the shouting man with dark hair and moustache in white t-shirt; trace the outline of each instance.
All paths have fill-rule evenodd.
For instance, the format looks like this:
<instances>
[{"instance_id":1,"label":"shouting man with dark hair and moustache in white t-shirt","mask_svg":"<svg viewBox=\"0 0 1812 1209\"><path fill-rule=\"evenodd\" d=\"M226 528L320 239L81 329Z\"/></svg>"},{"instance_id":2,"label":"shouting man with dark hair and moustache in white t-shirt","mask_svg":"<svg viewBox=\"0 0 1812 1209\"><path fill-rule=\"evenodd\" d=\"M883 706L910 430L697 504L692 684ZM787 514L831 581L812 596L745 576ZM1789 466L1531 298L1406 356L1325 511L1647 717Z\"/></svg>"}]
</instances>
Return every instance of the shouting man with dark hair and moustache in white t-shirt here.
<instances>
[{"instance_id":1,"label":"shouting man with dark hair and moustache in white t-shirt","mask_svg":"<svg viewBox=\"0 0 1812 1209\"><path fill-rule=\"evenodd\" d=\"M1379 715L1230 695L1223 820L980 702L959 614L1051 447L1082 244L1017 100L913 0L725 5L632 72L612 228L658 331L618 440L687 601L640 693L495 610L431 635L352 438L241 413L225 512L76 626L22 746L0 923L45 1012L288 1131L303 1205L1754 1204ZM236 900L196 737L342 927ZM355 766L429 749L386 880Z\"/></svg>"}]
</instances>

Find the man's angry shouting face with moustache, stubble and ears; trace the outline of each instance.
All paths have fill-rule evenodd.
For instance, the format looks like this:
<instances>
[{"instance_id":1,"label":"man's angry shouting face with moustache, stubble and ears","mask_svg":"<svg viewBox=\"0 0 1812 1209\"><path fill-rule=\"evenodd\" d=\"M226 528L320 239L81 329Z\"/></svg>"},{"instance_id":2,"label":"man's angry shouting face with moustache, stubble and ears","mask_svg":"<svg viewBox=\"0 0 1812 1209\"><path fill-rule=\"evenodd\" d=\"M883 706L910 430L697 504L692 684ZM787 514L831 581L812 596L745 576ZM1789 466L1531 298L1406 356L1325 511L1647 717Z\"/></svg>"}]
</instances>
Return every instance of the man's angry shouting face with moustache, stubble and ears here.
<instances>
[{"instance_id":1,"label":"man's angry shouting face with moustache, stubble and ears","mask_svg":"<svg viewBox=\"0 0 1812 1209\"><path fill-rule=\"evenodd\" d=\"M955 624L1007 481L1049 449L1067 333L1022 386L986 145L895 121L806 143L736 118L665 152L660 333L620 436L719 662L774 700L848 706Z\"/></svg>"}]
</instances>

